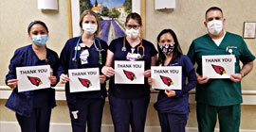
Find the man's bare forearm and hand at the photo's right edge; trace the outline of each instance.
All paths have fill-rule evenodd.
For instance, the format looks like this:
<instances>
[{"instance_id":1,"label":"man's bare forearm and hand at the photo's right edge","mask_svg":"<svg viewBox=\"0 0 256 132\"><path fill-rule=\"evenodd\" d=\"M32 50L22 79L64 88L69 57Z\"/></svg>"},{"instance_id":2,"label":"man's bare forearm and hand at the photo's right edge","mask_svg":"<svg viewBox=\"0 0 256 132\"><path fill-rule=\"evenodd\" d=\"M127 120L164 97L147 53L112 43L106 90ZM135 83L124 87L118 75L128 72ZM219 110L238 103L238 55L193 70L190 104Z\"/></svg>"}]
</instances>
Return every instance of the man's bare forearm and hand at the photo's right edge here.
<instances>
[{"instance_id":1,"label":"man's bare forearm and hand at the photo's right edge","mask_svg":"<svg viewBox=\"0 0 256 132\"><path fill-rule=\"evenodd\" d=\"M247 62L246 64L243 65L239 74L231 74L230 80L233 82L241 81L244 76L249 74L252 68L253 68L253 61Z\"/></svg>"}]
</instances>

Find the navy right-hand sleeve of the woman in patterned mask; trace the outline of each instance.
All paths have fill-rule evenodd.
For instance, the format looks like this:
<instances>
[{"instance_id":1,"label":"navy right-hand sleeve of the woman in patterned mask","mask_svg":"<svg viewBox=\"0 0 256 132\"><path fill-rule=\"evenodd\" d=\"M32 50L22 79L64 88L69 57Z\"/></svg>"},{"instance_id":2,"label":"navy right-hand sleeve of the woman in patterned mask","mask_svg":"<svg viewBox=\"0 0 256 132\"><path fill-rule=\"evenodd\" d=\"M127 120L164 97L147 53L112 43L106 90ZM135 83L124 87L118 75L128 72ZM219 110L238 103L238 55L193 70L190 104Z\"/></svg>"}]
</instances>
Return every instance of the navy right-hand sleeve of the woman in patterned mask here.
<instances>
[{"instance_id":1,"label":"navy right-hand sleeve of the woman in patterned mask","mask_svg":"<svg viewBox=\"0 0 256 132\"><path fill-rule=\"evenodd\" d=\"M185 74L188 76L188 84L186 84L181 91L175 91L176 97L180 97L183 94L188 93L197 85L197 77L191 60L189 58L185 58L184 61Z\"/></svg>"}]
</instances>

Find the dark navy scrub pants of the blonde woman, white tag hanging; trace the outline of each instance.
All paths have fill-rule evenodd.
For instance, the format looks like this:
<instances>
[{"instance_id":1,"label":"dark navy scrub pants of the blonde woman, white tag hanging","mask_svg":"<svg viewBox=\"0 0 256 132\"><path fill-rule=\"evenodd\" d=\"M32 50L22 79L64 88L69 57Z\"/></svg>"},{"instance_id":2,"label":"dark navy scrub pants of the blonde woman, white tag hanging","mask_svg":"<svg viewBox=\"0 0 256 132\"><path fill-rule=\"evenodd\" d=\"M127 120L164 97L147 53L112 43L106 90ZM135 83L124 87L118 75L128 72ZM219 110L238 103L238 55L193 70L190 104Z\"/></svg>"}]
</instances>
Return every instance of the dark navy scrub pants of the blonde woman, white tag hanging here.
<instances>
[{"instance_id":1,"label":"dark navy scrub pants of the blonde woman, white tag hanging","mask_svg":"<svg viewBox=\"0 0 256 132\"><path fill-rule=\"evenodd\" d=\"M73 132L101 132L102 112L105 98L76 98L75 104L68 104ZM72 111L77 111L75 119Z\"/></svg>"}]
</instances>

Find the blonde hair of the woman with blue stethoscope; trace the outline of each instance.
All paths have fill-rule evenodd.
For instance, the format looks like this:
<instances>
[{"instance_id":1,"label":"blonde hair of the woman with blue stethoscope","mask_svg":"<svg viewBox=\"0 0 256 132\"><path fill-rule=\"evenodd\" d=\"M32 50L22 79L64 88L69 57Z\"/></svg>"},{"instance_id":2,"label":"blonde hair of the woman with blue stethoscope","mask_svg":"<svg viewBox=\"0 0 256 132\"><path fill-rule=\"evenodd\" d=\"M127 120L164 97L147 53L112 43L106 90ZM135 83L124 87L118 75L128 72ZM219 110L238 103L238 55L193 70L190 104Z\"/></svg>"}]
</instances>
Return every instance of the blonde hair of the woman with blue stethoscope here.
<instances>
[{"instance_id":1,"label":"blonde hair of the woman with blue stethoscope","mask_svg":"<svg viewBox=\"0 0 256 132\"><path fill-rule=\"evenodd\" d=\"M95 13L94 11L90 10L90 9L86 9L82 12L81 16L80 16L80 22L79 22L79 25L80 25L80 28L82 30L82 21L83 21L83 17L86 16L86 15L93 15L97 21L97 31L95 32L96 36L99 36L99 33L100 33L100 20L99 20L99 17L97 15L97 13Z\"/></svg>"}]
</instances>

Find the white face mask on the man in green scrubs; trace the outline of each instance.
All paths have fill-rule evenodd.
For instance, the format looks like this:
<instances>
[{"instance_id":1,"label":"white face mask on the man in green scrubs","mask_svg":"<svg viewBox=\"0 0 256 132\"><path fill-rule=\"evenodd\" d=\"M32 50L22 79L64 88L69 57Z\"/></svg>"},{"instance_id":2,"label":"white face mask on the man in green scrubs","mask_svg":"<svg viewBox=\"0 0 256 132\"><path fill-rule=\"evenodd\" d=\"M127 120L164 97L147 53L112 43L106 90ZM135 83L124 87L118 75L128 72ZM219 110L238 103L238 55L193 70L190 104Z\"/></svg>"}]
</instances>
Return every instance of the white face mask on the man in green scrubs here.
<instances>
[{"instance_id":1,"label":"white face mask on the man in green scrubs","mask_svg":"<svg viewBox=\"0 0 256 132\"><path fill-rule=\"evenodd\" d=\"M207 28L210 34L219 35L223 29L223 23L221 20L212 20L207 23Z\"/></svg>"}]
</instances>

